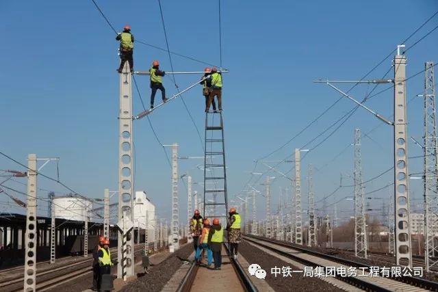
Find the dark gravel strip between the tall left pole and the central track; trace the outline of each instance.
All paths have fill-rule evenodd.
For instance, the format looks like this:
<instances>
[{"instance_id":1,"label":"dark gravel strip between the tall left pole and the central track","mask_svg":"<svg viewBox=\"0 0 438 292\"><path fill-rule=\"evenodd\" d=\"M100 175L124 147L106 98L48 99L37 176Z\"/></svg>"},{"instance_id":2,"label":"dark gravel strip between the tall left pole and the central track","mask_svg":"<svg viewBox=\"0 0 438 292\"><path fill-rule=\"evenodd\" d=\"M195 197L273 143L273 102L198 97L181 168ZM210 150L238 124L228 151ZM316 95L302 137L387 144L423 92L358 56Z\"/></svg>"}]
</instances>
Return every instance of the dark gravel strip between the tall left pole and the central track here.
<instances>
[{"instance_id":1,"label":"dark gravel strip between the tall left pole and the central track","mask_svg":"<svg viewBox=\"0 0 438 292\"><path fill-rule=\"evenodd\" d=\"M188 244L180 248L162 261L158 265L153 266L149 274L142 276L123 287L120 292L159 292L164 285L172 278L173 274L187 261L188 256L193 252L193 245Z\"/></svg>"}]
</instances>

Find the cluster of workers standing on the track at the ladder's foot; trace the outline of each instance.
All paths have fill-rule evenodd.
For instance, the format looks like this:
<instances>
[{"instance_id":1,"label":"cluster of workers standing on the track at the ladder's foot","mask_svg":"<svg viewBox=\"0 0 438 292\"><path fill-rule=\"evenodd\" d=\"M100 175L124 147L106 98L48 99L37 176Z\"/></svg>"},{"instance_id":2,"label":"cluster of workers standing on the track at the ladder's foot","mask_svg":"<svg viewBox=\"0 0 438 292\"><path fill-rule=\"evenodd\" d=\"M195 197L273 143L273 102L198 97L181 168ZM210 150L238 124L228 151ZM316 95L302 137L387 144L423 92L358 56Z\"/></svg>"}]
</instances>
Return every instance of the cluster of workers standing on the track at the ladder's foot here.
<instances>
[{"instance_id":1,"label":"cluster of workers standing on the track at the ladder's foot","mask_svg":"<svg viewBox=\"0 0 438 292\"><path fill-rule=\"evenodd\" d=\"M230 256L237 258L237 248L242 241L240 230L240 214L235 208L229 210L229 220L227 220L228 242L230 243ZM207 265L211 266L214 260L214 269L220 269L222 265L222 243L224 242L224 228L220 225L219 219L214 218L210 225L208 219L203 219L198 210L194 211L190 220L190 233L193 238L195 250L195 261L201 264L203 253L207 250Z\"/></svg>"}]
</instances>

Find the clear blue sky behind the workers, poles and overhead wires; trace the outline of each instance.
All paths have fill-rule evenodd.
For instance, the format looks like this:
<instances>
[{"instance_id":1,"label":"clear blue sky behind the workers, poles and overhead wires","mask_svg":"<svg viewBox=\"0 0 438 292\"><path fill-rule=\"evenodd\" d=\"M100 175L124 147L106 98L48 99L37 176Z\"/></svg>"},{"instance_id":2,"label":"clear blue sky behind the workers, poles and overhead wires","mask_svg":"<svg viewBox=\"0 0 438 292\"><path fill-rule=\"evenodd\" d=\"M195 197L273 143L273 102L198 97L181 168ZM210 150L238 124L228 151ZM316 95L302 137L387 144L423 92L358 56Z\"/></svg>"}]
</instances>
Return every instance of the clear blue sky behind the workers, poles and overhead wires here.
<instances>
[{"instance_id":1,"label":"clear blue sky behind the workers, poles and overhead wires","mask_svg":"<svg viewBox=\"0 0 438 292\"><path fill-rule=\"evenodd\" d=\"M166 47L157 1L99 1L101 9L118 31L132 27L136 40ZM219 64L217 1L162 1L171 51ZM289 140L313 118L329 107L339 94L313 79L360 79L438 10L426 1L229 1L222 0L222 59L230 73L224 76L224 120L227 147L229 198L244 188L253 170L253 161ZM27 153L38 157L60 157L60 179L81 194L98 198L103 189L117 188L118 161L118 43L92 1L1 1L0 31L7 36L0 47L0 121L2 152L26 163ZM407 42L407 47L438 25L435 16ZM424 68L424 62L438 62L437 31L407 52L407 76ZM147 70L153 59L170 71L167 53L136 43L136 70ZM175 70L202 70L205 65L173 55ZM391 57L370 75L382 77L391 66ZM388 77L391 78L392 71ZM177 77L179 88L196 82L198 76ZM137 77L142 98L149 103L149 81ZM408 99L422 92L423 75L407 83ZM169 94L176 92L164 78ZM349 85L342 88L348 90ZM387 85L379 85L382 90ZM351 94L362 99L372 86L360 85ZM197 127L203 135L201 88L184 95ZM383 116L392 114L391 90L372 98L368 106ZM269 159L284 159L339 119L354 105L343 99L318 122ZM421 98L409 104L409 135L422 139ZM141 111L138 94L133 92L133 111ZM180 100L155 111L153 127L162 144L180 144L180 155L203 155L196 129ZM352 143L355 127L363 132L381 122L359 109L326 142L309 152L302 161L320 168ZM311 148L326 134L307 146ZM387 170L392 163L392 129L383 124L363 137L363 178L367 180ZM134 123L136 148L136 189L144 189L163 217L170 214L170 168L162 146L155 140L147 120ZM170 149L168 149L170 151ZM169 152L170 154L170 152ZM409 156L421 155L410 145ZM320 171L315 171L316 200L339 185L339 174L352 174L352 146ZM180 163L181 174L203 181L196 169L202 159ZM283 163L287 172L291 165ZM422 171L422 159L412 159L409 172ZM0 158L0 169L21 168ZM257 164L255 172L264 172ZM56 176L55 164L44 174ZM269 173L271 176L276 174ZM391 172L366 185L367 191L391 181ZM257 177L254 177L255 181ZM260 183L264 181L260 179ZM352 181L344 181L351 184ZM67 190L40 178L40 187L58 194ZM302 181L303 191L307 183ZM8 186L25 190L23 185ZM276 203L279 187L289 181L277 178L272 185ZM196 188L195 188L196 189ZM263 186L259 186L263 189ZM201 189L198 189L201 192ZM373 194L389 198L391 188ZM19 194L12 195L24 199ZM185 217L186 191L180 183L181 212ZM328 200L350 196L352 188L340 189ZM40 191L39 196L46 196ZM411 181L411 198L422 197L421 181ZM0 201L5 202L6 197ZM376 208L381 201L372 201ZM419 201L413 201L412 205ZM263 198L259 198L263 210ZM45 204L44 204L45 205ZM4 206L3 206L4 207ZM320 208L321 205L318 205ZM352 202L338 204L338 210L352 210ZM23 211L14 207L3 211ZM330 210L329 210L330 211ZM348 213L348 212L347 212ZM338 214L342 217L342 213ZM259 215L262 217L262 215ZM348 217L346 214L344 217Z\"/></svg>"}]
</instances>

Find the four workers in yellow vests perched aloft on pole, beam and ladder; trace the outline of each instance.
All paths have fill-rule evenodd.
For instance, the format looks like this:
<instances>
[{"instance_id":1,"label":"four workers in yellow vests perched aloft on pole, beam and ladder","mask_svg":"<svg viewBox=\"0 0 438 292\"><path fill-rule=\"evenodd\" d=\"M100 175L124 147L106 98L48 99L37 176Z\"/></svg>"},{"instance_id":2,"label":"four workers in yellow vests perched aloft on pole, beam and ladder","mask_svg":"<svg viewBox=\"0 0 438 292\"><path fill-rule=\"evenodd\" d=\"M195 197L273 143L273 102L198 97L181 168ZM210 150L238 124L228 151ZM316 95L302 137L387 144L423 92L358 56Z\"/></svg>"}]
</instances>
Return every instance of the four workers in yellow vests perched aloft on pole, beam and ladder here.
<instances>
[{"instance_id":1,"label":"four workers in yellow vests perched aloft on pole, beam and ladder","mask_svg":"<svg viewBox=\"0 0 438 292\"><path fill-rule=\"evenodd\" d=\"M133 49L134 49L134 36L131 34L131 27L125 25L123 27L123 32L116 36L116 40L120 41L120 66L117 72L121 73L125 62L129 63L131 72L134 72L134 61L133 61ZM210 105L213 105L213 111L216 113L216 103L214 102L214 97L218 98L219 111L222 111L222 74L218 72L218 68L205 68L204 76L201 78L201 85L203 85L203 96L205 96L205 112L208 112ZM149 69L149 75L151 79L151 109L153 109L155 94L157 90L162 92L162 101L166 103L168 98L166 98L166 89L163 86L162 77L166 75L166 72L159 70L159 62L154 60L152 62L152 67Z\"/></svg>"}]
</instances>

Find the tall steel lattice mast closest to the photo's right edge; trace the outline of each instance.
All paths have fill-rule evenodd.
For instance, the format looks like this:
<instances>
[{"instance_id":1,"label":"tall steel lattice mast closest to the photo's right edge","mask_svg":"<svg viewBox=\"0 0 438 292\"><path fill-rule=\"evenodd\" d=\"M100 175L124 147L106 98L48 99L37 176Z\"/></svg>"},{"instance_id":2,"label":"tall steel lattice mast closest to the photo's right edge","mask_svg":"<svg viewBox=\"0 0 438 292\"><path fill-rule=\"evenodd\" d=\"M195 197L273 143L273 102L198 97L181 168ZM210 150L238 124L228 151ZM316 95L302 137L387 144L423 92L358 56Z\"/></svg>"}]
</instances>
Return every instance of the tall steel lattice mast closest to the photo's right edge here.
<instances>
[{"instance_id":1,"label":"tall steel lattice mast closest to the photo's right edge","mask_svg":"<svg viewBox=\"0 0 438 292\"><path fill-rule=\"evenodd\" d=\"M433 62L426 62L424 75L424 262L426 271L437 265L435 254L435 227L438 224L438 151L437 122L435 108L435 77Z\"/></svg>"}]
</instances>

